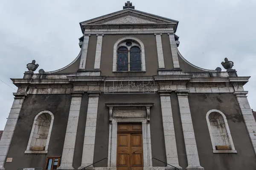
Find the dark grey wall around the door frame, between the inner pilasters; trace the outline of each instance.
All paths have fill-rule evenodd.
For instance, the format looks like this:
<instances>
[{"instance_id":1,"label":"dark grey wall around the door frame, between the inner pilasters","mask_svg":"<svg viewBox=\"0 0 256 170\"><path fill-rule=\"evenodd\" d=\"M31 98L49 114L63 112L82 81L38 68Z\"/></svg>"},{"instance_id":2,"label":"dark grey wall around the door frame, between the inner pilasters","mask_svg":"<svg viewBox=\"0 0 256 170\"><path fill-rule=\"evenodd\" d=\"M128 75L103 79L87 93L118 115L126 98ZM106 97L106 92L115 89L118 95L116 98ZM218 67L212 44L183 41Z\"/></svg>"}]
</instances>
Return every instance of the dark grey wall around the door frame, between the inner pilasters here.
<instances>
[{"instance_id":1,"label":"dark grey wall around the door frame, between the inner pilasters","mask_svg":"<svg viewBox=\"0 0 256 170\"><path fill-rule=\"evenodd\" d=\"M136 97L135 97L136 96ZM105 103L145 103L152 102L150 109L150 132L152 156L166 161L163 121L160 107L159 94L101 94L99 97L98 118L96 127L96 140L94 161L108 157L109 109ZM153 161L153 166L165 166L158 161ZM95 167L107 167L107 160L99 162Z\"/></svg>"}]
</instances>

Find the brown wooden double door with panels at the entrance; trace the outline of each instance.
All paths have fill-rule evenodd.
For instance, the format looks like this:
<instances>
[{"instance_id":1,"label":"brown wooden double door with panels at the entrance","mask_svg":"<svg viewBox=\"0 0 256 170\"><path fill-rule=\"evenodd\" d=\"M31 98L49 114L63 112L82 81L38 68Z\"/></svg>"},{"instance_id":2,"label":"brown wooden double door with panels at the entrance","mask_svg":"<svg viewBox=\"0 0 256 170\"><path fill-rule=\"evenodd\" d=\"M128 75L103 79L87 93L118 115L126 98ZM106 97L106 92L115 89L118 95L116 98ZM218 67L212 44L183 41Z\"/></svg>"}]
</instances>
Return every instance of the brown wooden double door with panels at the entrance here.
<instances>
[{"instance_id":1,"label":"brown wooden double door with panels at the entrance","mask_svg":"<svg viewBox=\"0 0 256 170\"><path fill-rule=\"evenodd\" d=\"M117 170L143 170L142 124L117 125Z\"/></svg>"}]
</instances>

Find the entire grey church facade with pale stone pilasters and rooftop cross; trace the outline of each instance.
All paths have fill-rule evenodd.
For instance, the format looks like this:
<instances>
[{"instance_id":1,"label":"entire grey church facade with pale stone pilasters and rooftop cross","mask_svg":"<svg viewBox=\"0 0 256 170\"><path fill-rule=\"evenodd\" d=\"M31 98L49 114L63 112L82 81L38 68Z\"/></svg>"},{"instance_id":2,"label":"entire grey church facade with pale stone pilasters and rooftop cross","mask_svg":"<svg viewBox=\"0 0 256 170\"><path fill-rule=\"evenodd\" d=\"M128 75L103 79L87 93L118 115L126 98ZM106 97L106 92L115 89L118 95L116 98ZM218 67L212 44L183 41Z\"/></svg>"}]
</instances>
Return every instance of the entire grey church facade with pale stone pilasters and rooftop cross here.
<instances>
[{"instance_id":1,"label":"entire grey church facade with pale stone pilasters and rooftop cross","mask_svg":"<svg viewBox=\"0 0 256 170\"><path fill-rule=\"evenodd\" d=\"M178 51L178 21L134 9L80 23L77 58L23 78L0 170L255 170L256 122L240 77Z\"/></svg>"}]
</instances>

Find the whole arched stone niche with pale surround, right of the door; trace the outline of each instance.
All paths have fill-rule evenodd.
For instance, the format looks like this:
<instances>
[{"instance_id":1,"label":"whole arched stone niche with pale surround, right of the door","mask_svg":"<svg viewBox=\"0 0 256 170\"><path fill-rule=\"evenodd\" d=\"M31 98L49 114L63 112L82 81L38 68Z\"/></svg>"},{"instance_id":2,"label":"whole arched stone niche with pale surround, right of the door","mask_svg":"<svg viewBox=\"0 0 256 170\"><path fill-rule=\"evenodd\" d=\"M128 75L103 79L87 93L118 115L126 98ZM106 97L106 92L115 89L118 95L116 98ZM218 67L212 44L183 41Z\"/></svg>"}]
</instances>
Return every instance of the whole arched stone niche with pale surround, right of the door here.
<instances>
[{"instance_id":1,"label":"whole arched stone niche with pale surround, right of the door","mask_svg":"<svg viewBox=\"0 0 256 170\"><path fill-rule=\"evenodd\" d=\"M213 153L236 153L226 116L213 109L206 115Z\"/></svg>"}]
</instances>

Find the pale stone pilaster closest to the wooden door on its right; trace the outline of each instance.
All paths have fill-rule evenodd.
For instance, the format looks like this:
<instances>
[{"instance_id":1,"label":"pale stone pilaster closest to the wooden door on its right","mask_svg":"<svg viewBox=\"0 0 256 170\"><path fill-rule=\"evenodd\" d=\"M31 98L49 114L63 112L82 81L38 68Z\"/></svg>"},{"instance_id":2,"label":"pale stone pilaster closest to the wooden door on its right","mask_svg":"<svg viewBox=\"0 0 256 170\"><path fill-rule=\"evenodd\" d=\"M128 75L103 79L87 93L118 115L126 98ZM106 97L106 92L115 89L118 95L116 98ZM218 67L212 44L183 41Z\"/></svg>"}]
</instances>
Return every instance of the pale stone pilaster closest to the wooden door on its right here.
<instances>
[{"instance_id":1,"label":"pale stone pilaster closest to the wooden door on its right","mask_svg":"<svg viewBox=\"0 0 256 170\"><path fill-rule=\"evenodd\" d=\"M158 90L161 100L162 118L163 118L163 133L166 148L166 161L167 164L171 164L179 169L177 144L175 139L175 130L172 117L172 104L171 104L171 92L172 90ZM166 169L172 169L167 165Z\"/></svg>"}]
</instances>

